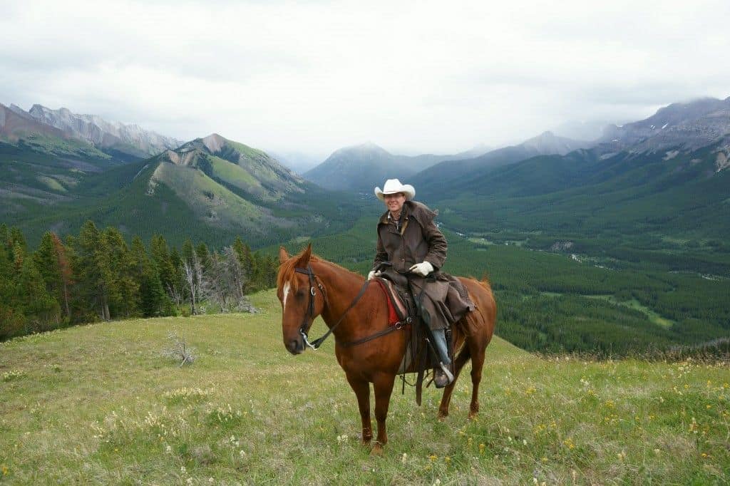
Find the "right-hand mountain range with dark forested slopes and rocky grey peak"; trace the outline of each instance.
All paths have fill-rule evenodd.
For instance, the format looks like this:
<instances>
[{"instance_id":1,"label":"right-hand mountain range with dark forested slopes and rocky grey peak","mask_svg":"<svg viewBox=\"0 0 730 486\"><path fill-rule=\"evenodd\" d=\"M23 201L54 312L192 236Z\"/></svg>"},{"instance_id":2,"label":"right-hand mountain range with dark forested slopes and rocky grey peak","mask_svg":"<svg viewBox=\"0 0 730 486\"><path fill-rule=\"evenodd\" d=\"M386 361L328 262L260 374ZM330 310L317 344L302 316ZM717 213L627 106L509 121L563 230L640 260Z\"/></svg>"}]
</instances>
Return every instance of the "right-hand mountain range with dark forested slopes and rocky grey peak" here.
<instances>
[{"instance_id":1,"label":"right-hand mountain range with dark forested slopes and rocky grey peak","mask_svg":"<svg viewBox=\"0 0 730 486\"><path fill-rule=\"evenodd\" d=\"M656 242L730 236L730 99L672 104L566 155L423 171L420 197L462 232ZM683 115L683 116L682 116ZM661 122L661 125L658 123ZM618 130L618 131L616 131ZM488 157L486 154L483 157ZM546 244L550 242L546 239ZM549 246L549 245L548 245Z\"/></svg>"}]
</instances>

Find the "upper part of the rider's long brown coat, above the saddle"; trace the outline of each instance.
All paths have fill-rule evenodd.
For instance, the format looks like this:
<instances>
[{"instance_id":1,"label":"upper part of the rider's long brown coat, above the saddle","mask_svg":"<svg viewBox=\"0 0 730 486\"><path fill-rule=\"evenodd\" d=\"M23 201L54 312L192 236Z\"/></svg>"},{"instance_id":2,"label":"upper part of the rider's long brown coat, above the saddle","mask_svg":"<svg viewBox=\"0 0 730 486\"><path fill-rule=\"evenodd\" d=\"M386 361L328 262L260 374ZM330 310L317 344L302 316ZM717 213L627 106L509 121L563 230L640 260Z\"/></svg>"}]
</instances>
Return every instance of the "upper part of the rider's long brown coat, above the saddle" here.
<instances>
[{"instance_id":1,"label":"upper part of the rider's long brown coat, above the saddle","mask_svg":"<svg viewBox=\"0 0 730 486\"><path fill-rule=\"evenodd\" d=\"M377 253L373 263L390 261L393 269L404 274L415 263L427 261L440 269L446 260L446 239L434 223L436 213L420 202L405 201L400 228L385 211L377 223Z\"/></svg>"}]
</instances>

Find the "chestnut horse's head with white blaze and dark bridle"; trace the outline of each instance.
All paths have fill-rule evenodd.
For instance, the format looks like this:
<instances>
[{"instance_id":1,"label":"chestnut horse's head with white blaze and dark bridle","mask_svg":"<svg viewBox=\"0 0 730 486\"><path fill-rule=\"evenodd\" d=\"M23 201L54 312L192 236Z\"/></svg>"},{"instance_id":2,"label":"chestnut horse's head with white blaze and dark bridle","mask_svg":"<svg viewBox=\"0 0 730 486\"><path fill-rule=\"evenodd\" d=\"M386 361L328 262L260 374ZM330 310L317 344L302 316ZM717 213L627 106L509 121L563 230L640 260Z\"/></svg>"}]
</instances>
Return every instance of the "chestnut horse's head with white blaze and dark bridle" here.
<instances>
[{"instance_id":1,"label":"chestnut horse's head with white blaze and dark bridle","mask_svg":"<svg viewBox=\"0 0 730 486\"><path fill-rule=\"evenodd\" d=\"M281 302L284 346L293 355L304 352L305 336L324 307L323 288L312 270L312 245L299 255L279 249L277 297Z\"/></svg>"}]
</instances>

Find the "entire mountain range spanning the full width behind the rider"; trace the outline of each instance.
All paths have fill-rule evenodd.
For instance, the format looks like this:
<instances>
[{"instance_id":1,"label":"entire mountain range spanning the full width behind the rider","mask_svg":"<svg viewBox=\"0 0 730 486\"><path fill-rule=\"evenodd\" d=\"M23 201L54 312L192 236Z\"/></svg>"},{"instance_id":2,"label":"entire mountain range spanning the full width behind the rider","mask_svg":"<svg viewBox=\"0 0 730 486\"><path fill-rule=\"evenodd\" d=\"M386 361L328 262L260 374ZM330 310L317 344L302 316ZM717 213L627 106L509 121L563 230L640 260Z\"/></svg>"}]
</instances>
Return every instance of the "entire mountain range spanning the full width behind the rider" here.
<instances>
[{"instance_id":1,"label":"entire mountain range spanning the full width behind the rider","mask_svg":"<svg viewBox=\"0 0 730 486\"><path fill-rule=\"evenodd\" d=\"M105 145L112 135L99 138L97 117L85 115L77 124L85 128L72 131L64 110L0 106L0 215L35 238L50 228L72 233L91 218L172 241L243 235L262 245L334 234L364 205L377 214L372 188L399 177L447 228L464 233L531 232L546 244L599 234L726 239L729 105L672 104L594 142L545 132L476 157L393 155L368 143L337 150L304 177L218 134L174 147L152 135ZM120 155L125 144L153 150L151 140L162 150Z\"/></svg>"}]
</instances>

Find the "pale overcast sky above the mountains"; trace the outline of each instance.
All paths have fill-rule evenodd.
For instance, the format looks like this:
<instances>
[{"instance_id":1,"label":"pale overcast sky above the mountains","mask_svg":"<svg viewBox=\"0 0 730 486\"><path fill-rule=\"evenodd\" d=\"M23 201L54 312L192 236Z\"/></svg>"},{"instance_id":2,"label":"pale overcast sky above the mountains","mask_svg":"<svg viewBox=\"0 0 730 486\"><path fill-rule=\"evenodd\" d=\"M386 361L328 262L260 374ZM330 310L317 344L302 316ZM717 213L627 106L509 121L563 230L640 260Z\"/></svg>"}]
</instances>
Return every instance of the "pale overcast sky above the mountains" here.
<instances>
[{"instance_id":1,"label":"pale overcast sky above the mountains","mask_svg":"<svg viewBox=\"0 0 730 486\"><path fill-rule=\"evenodd\" d=\"M265 150L456 153L730 96L727 0L0 0L0 12L0 103Z\"/></svg>"}]
</instances>

